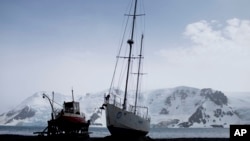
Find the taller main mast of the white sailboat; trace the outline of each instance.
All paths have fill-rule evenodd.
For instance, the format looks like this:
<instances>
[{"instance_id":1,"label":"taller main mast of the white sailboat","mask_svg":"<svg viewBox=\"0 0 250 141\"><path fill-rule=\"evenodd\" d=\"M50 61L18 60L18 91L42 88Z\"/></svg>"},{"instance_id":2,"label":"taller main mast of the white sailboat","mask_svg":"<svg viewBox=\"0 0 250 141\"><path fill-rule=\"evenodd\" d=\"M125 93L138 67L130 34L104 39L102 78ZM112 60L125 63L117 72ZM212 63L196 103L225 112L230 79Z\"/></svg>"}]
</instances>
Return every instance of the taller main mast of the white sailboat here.
<instances>
[{"instance_id":1,"label":"taller main mast of the white sailboat","mask_svg":"<svg viewBox=\"0 0 250 141\"><path fill-rule=\"evenodd\" d=\"M136 9L137 9L137 0L135 0L134 6L134 14L133 16L133 24L132 24L132 32L131 38L127 41L129 44L129 56L128 56L128 69L127 69L127 78L126 78L126 85L125 85L125 94L124 94L124 101L123 101L123 110L127 108L127 93L128 93L128 80L129 80L129 73L130 73L130 64L131 64L131 55L132 55L132 46L134 44L134 29L135 29L135 20L136 20Z\"/></svg>"}]
</instances>

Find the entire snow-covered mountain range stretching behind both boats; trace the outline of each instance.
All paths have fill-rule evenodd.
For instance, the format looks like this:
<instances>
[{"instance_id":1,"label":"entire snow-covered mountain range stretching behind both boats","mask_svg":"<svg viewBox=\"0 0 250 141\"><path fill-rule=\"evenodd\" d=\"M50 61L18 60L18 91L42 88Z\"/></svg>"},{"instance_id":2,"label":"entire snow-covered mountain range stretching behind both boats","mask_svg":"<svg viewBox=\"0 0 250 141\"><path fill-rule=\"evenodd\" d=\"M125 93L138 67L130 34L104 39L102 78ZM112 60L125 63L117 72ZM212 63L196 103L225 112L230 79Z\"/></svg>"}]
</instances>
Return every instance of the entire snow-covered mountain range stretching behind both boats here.
<instances>
[{"instance_id":1,"label":"entire snow-covered mountain range stretching behind both boats","mask_svg":"<svg viewBox=\"0 0 250 141\"><path fill-rule=\"evenodd\" d=\"M105 111L99 109L103 104L104 93L75 95L80 102L81 112L91 119L92 126L105 126ZM16 108L0 115L0 125L46 126L51 107L46 93L38 92L28 97ZM121 91L113 90L120 94ZM250 123L250 93L223 93L205 88L176 87L147 91L142 94L144 104L149 107L152 126L156 127L229 127L230 124ZM130 96L129 99L133 99ZM61 109L64 101L72 97L55 93L56 109Z\"/></svg>"}]
</instances>

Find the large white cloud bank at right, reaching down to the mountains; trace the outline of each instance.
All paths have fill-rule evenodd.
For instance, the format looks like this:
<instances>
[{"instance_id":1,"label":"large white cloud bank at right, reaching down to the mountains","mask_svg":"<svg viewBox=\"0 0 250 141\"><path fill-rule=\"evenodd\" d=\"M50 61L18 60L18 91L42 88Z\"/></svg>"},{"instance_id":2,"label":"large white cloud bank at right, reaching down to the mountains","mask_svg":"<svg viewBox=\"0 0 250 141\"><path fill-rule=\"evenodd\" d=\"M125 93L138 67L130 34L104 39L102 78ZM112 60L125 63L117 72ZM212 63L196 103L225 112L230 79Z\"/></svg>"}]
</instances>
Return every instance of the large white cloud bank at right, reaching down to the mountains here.
<instances>
[{"instance_id":1,"label":"large white cloud bank at right, reaching down to the mountains","mask_svg":"<svg viewBox=\"0 0 250 141\"><path fill-rule=\"evenodd\" d=\"M202 79L202 87L250 90L250 20L201 20L188 24L183 35L186 45L157 52L172 73L193 86Z\"/></svg>"}]
</instances>

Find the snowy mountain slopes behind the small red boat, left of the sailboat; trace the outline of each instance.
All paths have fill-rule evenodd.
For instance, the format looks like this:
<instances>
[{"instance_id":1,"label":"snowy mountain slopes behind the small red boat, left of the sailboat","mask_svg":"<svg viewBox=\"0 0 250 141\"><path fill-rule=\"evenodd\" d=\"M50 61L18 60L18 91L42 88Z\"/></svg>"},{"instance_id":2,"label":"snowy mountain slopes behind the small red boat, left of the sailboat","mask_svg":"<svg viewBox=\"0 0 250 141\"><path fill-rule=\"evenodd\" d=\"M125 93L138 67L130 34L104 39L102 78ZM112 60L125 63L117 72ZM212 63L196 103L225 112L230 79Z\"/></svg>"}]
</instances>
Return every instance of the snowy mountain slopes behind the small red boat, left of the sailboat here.
<instances>
[{"instance_id":1,"label":"snowy mountain slopes behind the small red boat, left of the sailboat","mask_svg":"<svg viewBox=\"0 0 250 141\"><path fill-rule=\"evenodd\" d=\"M0 115L0 125L25 125L25 126L46 126L47 121L51 119L51 106L48 99L43 98L43 93L48 95L50 98L52 92L38 92L28 97L16 108L9 112ZM80 110L85 113L86 117L89 117L95 112L95 106L101 104L98 95L96 97L86 94L85 96L74 96L75 101L80 102ZM102 96L100 96L102 98ZM97 99L99 102L94 102ZM62 109L64 101L71 101L72 97L69 95L63 95L60 93L54 94L54 108L59 111ZM101 121L103 122L103 121Z\"/></svg>"}]
</instances>

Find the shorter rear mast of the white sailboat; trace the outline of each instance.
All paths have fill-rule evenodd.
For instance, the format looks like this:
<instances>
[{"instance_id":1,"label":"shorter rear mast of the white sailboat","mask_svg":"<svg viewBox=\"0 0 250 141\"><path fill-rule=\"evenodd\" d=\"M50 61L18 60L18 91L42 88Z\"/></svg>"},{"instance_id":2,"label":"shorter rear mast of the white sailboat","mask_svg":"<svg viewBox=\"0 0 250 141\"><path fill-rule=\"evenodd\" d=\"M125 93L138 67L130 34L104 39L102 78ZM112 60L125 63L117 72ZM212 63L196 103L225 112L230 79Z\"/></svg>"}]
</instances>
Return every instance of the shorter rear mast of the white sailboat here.
<instances>
[{"instance_id":1,"label":"shorter rear mast of the white sailboat","mask_svg":"<svg viewBox=\"0 0 250 141\"><path fill-rule=\"evenodd\" d=\"M141 59L142 59L142 44L143 44L143 38L144 35L141 36L141 48L140 48L140 54L139 54L139 64L138 64L138 73L137 73L137 84L136 84L136 92L135 92L135 111L136 113L136 107L137 107L137 97L139 93L139 83L140 83L140 75L141 75Z\"/></svg>"}]
</instances>

